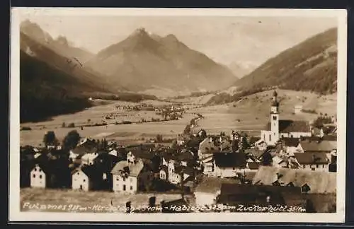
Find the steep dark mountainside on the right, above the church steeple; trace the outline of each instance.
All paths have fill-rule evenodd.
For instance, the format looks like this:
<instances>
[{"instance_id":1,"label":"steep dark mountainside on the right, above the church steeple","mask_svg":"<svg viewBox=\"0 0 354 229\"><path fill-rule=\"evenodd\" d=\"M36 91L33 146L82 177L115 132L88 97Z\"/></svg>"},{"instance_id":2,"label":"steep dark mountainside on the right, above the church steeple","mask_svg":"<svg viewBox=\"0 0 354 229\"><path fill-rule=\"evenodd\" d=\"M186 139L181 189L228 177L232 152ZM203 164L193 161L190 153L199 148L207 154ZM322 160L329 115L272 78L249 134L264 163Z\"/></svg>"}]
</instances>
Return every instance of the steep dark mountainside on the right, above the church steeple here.
<instances>
[{"instance_id":1,"label":"steep dark mountainside on the right, above the church steeple","mask_svg":"<svg viewBox=\"0 0 354 229\"><path fill-rule=\"evenodd\" d=\"M280 86L316 93L336 92L336 42L336 28L310 37L266 61L237 81L237 86L245 90Z\"/></svg>"}]
</instances>

